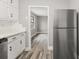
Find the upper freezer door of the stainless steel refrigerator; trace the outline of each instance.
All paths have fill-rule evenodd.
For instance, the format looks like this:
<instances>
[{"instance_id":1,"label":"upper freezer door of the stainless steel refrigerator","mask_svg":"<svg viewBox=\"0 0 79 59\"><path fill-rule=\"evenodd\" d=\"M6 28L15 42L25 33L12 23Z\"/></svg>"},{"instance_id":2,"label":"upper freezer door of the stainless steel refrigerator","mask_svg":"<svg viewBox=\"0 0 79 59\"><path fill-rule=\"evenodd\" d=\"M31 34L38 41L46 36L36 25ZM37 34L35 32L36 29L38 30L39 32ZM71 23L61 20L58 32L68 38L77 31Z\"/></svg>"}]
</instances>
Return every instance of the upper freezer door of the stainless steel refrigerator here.
<instances>
[{"instance_id":1,"label":"upper freezer door of the stainless steel refrigerator","mask_svg":"<svg viewBox=\"0 0 79 59\"><path fill-rule=\"evenodd\" d=\"M55 11L54 27L77 27L76 16L75 10L58 9Z\"/></svg>"}]
</instances>

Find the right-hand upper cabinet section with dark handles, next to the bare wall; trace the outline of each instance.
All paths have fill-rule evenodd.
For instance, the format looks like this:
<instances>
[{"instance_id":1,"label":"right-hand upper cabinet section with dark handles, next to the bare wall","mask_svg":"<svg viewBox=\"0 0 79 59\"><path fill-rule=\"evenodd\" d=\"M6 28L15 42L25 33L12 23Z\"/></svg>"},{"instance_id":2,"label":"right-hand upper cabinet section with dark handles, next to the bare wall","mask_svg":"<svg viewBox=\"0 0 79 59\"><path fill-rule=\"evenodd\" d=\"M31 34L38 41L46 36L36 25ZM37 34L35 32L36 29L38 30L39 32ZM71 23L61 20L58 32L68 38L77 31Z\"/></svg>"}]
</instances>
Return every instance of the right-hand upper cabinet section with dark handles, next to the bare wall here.
<instances>
[{"instance_id":1,"label":"right-hand upper cabinet section with dark handles, next to the bare wall","mask_svg":"<svg viewBox=\"0 0 79 59\"><path fill-rule=\"evenodd\" d=\"M9 0L10 5L10 19L18 20L18 0Z\"/></svg>"}]
</instances>

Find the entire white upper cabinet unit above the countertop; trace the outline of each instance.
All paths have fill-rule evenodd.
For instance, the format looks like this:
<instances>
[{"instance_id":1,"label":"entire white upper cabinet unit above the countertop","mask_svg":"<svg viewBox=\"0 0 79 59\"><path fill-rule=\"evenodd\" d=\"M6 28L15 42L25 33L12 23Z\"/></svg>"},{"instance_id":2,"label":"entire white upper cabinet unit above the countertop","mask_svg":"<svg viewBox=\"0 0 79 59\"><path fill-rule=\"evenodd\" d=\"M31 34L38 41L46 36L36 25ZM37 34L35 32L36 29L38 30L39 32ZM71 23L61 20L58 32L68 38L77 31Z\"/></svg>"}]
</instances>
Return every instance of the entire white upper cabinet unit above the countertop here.
<instances>
[{"instance_id":1,"label":"entire white upper cabinet unit above the countertop","mask_svg":"<svg viewBox=\"0 0 79 59\"><path fill-rule=\"evenodd\" d=\"M0 20L18 20L18 0L0 1Z\"/></svg>"}]
</instances>

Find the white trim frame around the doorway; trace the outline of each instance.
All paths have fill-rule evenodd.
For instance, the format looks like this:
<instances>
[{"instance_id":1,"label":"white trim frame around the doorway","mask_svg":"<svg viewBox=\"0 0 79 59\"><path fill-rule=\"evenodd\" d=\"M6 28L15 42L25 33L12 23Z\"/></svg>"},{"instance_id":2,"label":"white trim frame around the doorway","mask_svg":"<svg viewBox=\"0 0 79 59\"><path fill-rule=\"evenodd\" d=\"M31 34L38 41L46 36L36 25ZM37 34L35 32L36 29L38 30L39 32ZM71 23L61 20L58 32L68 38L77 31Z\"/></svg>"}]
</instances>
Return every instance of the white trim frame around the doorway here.
<instances>
[{"instance_id":1,"label":"white trim frame around the doorway","mask_svg":"<svg viewBox=\"0 0 79 59\"><path fill-rule=\"evenodd\" d=\"M30 14L30 11L31 11L31 7L45 7L45 8L47 8L47 12L48 12L48 48L49 48L49 6L37 6L37 5L29 5L28 6L28 39L29 39L29 48L31 49L31 27L30 27L30 16L31 16L31 14Z\"/></svg>"}]
</instances>

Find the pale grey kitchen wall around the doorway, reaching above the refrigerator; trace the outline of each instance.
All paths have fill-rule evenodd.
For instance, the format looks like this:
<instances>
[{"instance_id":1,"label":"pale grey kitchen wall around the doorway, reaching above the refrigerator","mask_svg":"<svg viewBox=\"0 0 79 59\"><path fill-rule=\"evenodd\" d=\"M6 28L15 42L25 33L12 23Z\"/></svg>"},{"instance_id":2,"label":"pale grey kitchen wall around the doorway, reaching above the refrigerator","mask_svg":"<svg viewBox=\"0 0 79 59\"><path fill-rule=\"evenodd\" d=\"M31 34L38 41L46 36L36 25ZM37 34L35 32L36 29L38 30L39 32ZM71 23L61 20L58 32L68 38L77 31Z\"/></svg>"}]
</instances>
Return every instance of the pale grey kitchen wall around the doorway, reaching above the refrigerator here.
<instances>
[{"instance_id":1,"label":"pale grey kitchen wall around the doorway, reaching above the refrigerator","mask_svg":"<svg viewBox=\"0 0 79 59\"><path fill-rule=\"evenodd\" d=\"M26 17L28 17L28 5L49 6L49 45L53 45L53 16L54 9L69 8L69 0L19 0L20 18L19 21L28 28Z\"/></svg>"}]
</instances>

